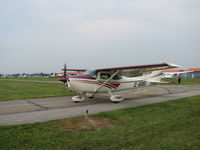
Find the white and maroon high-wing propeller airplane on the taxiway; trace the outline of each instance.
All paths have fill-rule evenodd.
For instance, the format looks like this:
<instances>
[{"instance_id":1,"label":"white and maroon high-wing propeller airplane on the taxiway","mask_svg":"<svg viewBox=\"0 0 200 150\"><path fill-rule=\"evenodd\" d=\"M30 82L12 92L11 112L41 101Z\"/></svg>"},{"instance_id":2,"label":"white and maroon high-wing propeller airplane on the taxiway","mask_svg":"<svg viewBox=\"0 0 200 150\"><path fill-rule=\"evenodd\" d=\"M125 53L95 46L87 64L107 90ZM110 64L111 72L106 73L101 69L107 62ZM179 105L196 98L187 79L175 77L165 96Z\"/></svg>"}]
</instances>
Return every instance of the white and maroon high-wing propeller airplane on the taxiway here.
<instances>
[{"instance_id":1,"label":"white and maroon high-wing propeller airplane on the taxiway","mask_svg":"<svg viewBox=\"0 0 200 150\"><path fill-rule=\"evenodd\" d=\"M127 89L151 86L153 83L161 83L162 70L178 68L180 66L172 63L159 63L140 66L127 66L115 68L103 68L96 70L66 69L64 67L64 78L60 81L72 91L79 95L72 97L76 103L85 99L93 98L97 93L109 93L110 100L114 103L124 100L121 95L112 92ZM76 76L68 76L66 71L84 72ZM142 72L153 71L151 74L142 76Z\"/></svg>"}]
</instances>

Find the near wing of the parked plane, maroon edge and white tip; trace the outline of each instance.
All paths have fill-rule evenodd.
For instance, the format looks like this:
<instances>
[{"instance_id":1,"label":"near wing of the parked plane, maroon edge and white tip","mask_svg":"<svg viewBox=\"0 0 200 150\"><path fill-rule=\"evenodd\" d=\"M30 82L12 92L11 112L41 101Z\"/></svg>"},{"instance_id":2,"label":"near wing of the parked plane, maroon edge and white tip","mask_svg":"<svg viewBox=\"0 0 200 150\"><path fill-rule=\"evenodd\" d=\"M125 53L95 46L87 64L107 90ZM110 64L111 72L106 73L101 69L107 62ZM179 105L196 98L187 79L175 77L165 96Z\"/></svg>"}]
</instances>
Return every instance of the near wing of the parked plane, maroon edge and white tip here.
<instances>
[{"instance_id":1,"label":"near wing of the parked plane, maroon edge and white tip","mask_svg":"<svg viewBox=\"0 0 200 150\"><path fill-rule=\"evenodd\" d=\"M155 71L155 70L165 70L170 68L178 68L180 66L172 63L160 63L160 64L149 64L149 65L139 65L139 66L126 66L126 67L115 67L115 68L103 68L97 69L97 72L115 72L119 70L120 75L126 76L138 76L145 71Z\"/></svg>"}]
</instances>

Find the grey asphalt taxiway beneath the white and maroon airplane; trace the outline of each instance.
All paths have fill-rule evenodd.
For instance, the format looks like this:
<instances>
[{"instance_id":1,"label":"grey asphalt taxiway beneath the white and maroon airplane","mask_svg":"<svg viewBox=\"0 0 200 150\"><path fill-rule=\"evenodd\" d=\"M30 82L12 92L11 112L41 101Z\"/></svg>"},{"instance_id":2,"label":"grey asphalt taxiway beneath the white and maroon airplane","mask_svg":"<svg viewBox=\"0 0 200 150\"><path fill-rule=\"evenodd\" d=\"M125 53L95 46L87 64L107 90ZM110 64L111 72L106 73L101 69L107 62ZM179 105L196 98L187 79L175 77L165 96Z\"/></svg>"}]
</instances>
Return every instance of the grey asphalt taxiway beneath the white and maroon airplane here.
<instances>
[{"instance_id":1,"label":"grey asphalt taxiway beneath the white and maroon airplane","mask_svg":"<svg viewBox=\"0 0 200 150\"><path fill-rule=\"evenodd\" d=\"M119 94L119 92L118 92ZM108 94L97 94L94 99L74 103L71 96L12 100L0 102L0 125L43 122L153 104L162 101L200 95L200 85L153 86L120 92L126 99L113 104Z\"/></svg>"}]
</instances>

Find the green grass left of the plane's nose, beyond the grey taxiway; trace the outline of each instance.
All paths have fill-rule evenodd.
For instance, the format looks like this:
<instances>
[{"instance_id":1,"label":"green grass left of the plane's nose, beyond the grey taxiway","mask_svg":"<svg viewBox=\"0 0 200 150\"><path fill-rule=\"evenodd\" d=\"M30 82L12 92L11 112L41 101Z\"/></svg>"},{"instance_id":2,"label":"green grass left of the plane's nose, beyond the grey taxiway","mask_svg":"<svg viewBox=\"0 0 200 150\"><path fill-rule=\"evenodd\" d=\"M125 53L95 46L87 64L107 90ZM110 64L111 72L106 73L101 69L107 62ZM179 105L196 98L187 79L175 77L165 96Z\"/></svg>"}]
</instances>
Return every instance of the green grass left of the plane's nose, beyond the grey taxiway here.
<instances>
[{"instance_id":1,"label":"green grass left of the plane's nose, beyond the grey taxiway","mask_svg":"<svg viewBox=\"0 0 200 150\"><path fill-rule=\"evenodd\" d=\"M0 80L0 101L74 95L61 83Z\"/></svg>"}]
</instances>

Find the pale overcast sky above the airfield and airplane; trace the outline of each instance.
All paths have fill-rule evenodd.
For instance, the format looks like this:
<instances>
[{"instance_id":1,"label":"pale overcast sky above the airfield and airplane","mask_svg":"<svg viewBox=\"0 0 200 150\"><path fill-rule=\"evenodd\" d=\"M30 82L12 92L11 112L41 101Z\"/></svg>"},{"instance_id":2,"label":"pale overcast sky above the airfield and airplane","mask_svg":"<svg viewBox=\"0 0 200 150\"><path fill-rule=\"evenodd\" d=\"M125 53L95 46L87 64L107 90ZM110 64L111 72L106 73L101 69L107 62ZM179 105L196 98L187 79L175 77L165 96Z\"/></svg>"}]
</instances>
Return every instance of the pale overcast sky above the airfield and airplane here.
<instances>
[{"instance_id":1,"label":"pale overcast sky above the airfield and airplane","mask_svg":"<svg viewBox=\"0 0 200 150\"><path fill-rule=\"evenodd\" d=\"M199 0L0 0L0 73L200 67Z\"/></svg>"}]
</instances>

